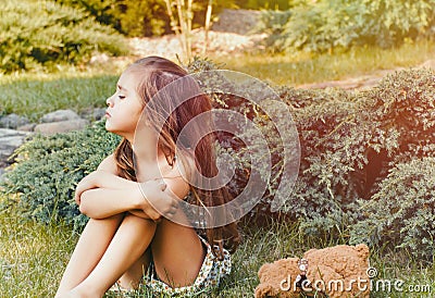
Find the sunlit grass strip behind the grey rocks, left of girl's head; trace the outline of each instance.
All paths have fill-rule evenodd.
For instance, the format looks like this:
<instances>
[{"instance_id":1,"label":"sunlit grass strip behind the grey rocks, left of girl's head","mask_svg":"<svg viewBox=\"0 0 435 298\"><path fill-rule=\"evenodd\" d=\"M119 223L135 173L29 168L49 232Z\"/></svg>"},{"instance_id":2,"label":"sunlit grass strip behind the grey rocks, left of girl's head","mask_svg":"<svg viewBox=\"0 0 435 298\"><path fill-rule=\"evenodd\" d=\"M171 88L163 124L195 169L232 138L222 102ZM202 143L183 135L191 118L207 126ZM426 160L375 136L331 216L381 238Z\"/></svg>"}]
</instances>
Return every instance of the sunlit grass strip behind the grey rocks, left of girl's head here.
<instances>
[{"instance_id":1,"label":"sunlit grass strip behind the grey rocks, left of girl's head","mask_svg":"<svg viewBox=\"0 0 435 298\"><path fill-rule=\"evenodd\" d=\"M60 65L54 73L13 73L0 76L0 115L16 113L38 122L59 109L77 113L105 107L129 60L88 66Z\"/></svg>"}]
</instances>

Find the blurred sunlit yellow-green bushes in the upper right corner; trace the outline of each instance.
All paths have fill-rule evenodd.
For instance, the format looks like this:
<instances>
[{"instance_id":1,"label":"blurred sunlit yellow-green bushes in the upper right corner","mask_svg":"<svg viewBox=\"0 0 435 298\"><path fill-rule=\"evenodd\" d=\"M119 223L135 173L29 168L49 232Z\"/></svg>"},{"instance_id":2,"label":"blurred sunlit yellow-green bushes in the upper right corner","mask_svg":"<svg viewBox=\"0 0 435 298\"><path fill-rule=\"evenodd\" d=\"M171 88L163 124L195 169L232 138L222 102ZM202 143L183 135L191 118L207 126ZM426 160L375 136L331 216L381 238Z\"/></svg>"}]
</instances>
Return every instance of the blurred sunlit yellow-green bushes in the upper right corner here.
<instances>
[{"instance_id":1,"label":"blurred sunlit yellow-green bushes in the upper right corner","mask_svg":"<svg viewBox=\"0 0 435 298\"><path fill-rule=\"evenodd\" d=\"M291 9L281 29L281 18L265 16L262 23L276 20L270 25L276 29L268 41L275 51L324 52L365 45L386 48L431 36L434 5L434 0L321 0Z\"/></svg>"}]
</instances>

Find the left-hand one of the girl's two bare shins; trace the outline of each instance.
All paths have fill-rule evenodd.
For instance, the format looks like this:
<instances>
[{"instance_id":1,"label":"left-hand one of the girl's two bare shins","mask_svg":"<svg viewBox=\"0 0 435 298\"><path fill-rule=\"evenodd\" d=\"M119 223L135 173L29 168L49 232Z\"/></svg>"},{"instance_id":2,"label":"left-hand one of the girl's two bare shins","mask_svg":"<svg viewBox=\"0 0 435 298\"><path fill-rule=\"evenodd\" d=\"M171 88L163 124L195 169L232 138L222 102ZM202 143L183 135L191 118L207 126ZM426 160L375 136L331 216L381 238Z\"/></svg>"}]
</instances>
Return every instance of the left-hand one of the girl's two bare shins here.
<instances>
[{"instance_id":1,"label":"left-hand one of the girl's two bare shins","mask_svg":"<svg viewBox=\"0 0 435 298\"><path fill-rule=\"evenodd\" d=\"M89 220L66 265L55 297L62 297L89 275L103 256L123 216L117 214L104 220Z\"/></svg>"}]
</instances>

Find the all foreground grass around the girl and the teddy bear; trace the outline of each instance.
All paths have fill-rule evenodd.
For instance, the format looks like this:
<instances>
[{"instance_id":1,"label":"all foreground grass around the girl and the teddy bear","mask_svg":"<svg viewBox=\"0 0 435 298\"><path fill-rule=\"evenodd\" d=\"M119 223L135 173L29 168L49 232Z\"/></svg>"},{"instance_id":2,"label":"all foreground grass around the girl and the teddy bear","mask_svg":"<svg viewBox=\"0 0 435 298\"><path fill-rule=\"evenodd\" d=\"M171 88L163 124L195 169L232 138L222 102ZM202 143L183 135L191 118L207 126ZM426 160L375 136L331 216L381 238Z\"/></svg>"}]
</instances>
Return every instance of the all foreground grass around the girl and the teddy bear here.
<instances>
[{"instance_id":1,"label":"all foreground grass around the girl and the teddy bear","mask_svg":"<svg viewBox=\"0 0 435 298\"><path fill-rule=\"evenodd\" d=\"M251 227L248 227L251 226ZM304 238L295 223L272 223L252 228L243 225L244 241L233 256L232 274L219 289L201 297L252 297L259 283L257 272L265 262L286 257L301 257L310 248L339 244L328 238ZM16 211L0 212L0 293L1 297L52 297L78 235L63 224L42 225L21 220ZM428 285L435 290L435 268L405 252L378 248L371 251L371 266L378 280L397 280L409 285ZM382 289L382 288L381 288ZM380 290L371 297L431 297L430 293ZM107 295L116 297L116 295ZM132 297L151 297L139 290Z\"/></svg>"}]
</instances>

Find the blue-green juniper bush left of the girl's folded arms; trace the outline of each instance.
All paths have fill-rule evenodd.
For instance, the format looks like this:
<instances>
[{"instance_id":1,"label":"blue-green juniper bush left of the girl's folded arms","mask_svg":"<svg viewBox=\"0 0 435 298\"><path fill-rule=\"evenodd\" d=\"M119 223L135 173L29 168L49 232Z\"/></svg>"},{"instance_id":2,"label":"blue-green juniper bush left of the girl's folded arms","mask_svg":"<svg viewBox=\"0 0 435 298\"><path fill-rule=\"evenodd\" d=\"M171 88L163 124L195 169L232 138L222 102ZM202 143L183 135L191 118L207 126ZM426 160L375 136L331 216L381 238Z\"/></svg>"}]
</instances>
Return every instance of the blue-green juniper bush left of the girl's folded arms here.
<instances>
[{"instance_id":1,"label":"blue-green juniper bush left of the girl's folded arms","mask_svg":"<svg viewBox=\"0 0 435 298\"><path fill-rule=\"evenodd\" d=\"M10 194L18 194L23 216L44 223L62 218L82 227L86 218L74 201L75 186L119 141L116 135L107 133L103 121L80 132L36 135L15 151L17 163L7 172L4 187Z\"/></svg>"}]
</instances>

